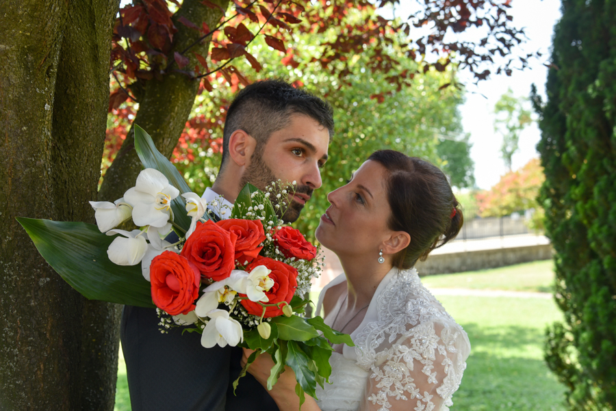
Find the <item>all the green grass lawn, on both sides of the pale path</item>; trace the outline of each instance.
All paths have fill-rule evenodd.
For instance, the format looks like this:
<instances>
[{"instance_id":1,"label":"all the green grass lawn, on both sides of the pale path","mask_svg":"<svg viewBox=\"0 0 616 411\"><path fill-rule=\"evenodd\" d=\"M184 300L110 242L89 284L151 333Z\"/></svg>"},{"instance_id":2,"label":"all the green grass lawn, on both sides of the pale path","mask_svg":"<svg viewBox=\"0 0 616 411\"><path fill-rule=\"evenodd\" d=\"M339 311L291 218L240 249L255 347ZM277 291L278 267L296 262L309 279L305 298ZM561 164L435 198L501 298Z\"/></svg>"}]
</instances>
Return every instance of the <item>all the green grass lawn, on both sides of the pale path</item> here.
<instances>
[{"instance_id":1,"label":"all the green grass lawn, on both sides of the pale path","mask_svg":"<svg viewBox=\"0 0 616 411\"><path fill-rule=\"evenodd\" d=\"M552 262L539 261L427 276L422 282L428 288L550 291L553 279ZM451 411L565 410L565 388L543 362L546 325L561 319L553 300L435 294L463 326L472 345ZM131 410L121 350L115 410Z\"/></svg>"}]
</instances>

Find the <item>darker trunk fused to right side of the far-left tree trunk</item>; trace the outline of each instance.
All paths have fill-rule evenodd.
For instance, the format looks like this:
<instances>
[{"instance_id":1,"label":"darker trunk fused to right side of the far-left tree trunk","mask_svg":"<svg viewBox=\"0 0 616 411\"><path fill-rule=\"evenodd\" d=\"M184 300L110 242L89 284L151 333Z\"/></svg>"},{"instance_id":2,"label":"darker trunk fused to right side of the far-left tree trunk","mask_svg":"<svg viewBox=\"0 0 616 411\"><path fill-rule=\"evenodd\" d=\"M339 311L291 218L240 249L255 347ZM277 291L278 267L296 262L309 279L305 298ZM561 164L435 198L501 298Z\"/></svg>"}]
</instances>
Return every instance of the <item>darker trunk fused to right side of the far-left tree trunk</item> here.
<instances>
[{"instance_id":1,"label":"darker trunk fused to right side of the far-left tree trunk","mask_svg":"<svg viewBox=\"0 0 616 411\"><path fill-rule=\"evenodd\" d=\"M111 36L119 0L72 0L55 84L53 104L53 202L58 220L94 223L88 204L97 185L107 127ZM72 290L71 290L72 291ZM118 375L121 306L79 301L79 387L81 410L113 410ZM77 360L77 358L75 358Z\"/></svg>"}]
</instances>

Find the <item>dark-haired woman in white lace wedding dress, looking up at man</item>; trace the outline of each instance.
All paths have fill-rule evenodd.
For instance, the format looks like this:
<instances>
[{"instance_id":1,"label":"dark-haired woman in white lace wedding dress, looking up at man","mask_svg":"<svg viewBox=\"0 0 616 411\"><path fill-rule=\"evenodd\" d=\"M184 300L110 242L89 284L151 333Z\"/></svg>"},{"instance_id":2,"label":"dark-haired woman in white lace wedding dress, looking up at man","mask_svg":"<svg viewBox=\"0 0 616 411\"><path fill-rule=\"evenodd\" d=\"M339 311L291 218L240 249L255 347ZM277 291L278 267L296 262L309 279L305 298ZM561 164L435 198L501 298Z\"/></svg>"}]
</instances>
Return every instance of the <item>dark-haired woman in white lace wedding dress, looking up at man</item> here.
<instances>
[{"instance_id":1,"label":"dark-haired woman in white lace wedding dress, looking up at man","mask_svg":"<svg viewBox=\"0 0 616 411\"><path fill-rule=\"evenodd\" d=\"M318 400L307 397L302 410L448 410L470 343L413 268L462 226L446 176L428 161L381 150L327 198L316 237L344 274L323 289L317 313L355 347L334 346L332 384L318 386ZM259 356L248 372L266 386L272 366ZM295 386L287 367L270 390L281 411L298 410Z\"/></svg>"}]
</instances>

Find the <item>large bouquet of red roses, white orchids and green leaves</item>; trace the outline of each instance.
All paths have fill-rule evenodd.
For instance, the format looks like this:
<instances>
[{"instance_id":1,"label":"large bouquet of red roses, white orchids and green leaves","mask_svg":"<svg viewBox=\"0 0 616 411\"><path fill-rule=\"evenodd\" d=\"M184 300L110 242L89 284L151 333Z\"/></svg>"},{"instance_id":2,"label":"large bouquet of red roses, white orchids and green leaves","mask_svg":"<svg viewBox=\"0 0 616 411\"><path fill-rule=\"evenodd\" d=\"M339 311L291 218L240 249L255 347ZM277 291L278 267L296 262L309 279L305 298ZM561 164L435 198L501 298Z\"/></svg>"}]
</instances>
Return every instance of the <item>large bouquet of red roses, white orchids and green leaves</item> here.
<instances>
[{"instance_id":1,"label":"large bouquet of red roses, white orchids and green leaves","mask_svg":"<svg viewBox=\"0 0 616 411\"><path fill-rule=\"evenodd\" d=\"M145 169L123 198L90 202L97 226L18 221L51 267L88 299L155 307L163 333L199 332L205 348L255 350L240 377L268 353L275 364L268 389L287 365L296 373L300 403L305 393L314 397L316 384L331 375L330 343L352 341L321 317L303 317L322 260L318 248L278 217L294 183L272 182L266 192L247 184L232 209L208 204L134 127ZM139 228L117 228L129 220Z\"/></svg>"}]
</instances>

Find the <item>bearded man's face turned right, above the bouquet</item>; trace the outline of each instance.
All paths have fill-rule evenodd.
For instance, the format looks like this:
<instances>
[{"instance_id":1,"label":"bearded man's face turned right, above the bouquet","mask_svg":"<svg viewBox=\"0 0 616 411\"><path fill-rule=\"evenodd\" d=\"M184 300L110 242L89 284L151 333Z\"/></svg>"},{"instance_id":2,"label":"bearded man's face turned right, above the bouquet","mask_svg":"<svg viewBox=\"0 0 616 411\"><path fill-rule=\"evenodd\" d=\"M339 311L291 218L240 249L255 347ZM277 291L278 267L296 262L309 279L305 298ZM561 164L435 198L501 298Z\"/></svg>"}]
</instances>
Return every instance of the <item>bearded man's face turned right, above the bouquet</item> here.
<instances>
[{"instance_id":1,"label":"bearded man's face turned right, above the bouquet","mask_svg":"<svg viewBox=\"0 0 616 411\"><path fill-rule=\"evenodd\" d=\"M265 144L257 147L251 163L242 176L243 187L251 183L264 189L272 181L296 182L296 193L289 194L289 207L282 216L294 222L312 192L321 187L320 168L327 161L329 131L318 121L302 114L293 114L289 126L274 131Z\"/></svg>"}]
</instances>

